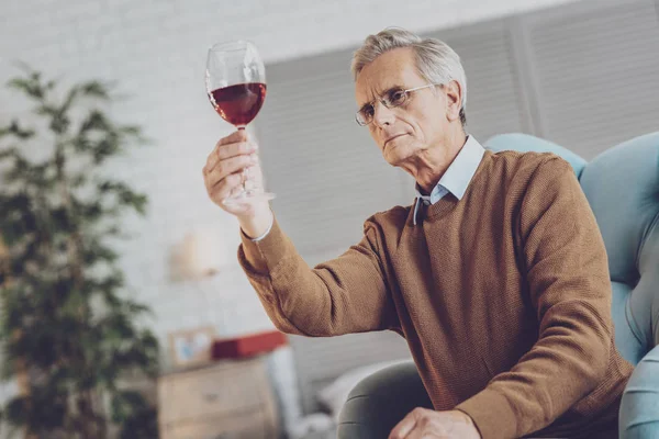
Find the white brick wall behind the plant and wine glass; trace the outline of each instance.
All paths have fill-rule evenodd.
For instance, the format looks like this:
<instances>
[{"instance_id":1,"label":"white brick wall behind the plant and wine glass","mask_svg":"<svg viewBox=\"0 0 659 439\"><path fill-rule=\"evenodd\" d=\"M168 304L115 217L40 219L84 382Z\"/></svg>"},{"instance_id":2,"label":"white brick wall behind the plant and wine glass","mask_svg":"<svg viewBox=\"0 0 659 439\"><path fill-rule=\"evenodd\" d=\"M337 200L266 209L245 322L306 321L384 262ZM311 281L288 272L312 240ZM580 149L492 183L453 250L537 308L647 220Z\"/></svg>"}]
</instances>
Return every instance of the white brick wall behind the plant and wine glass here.
<instances>
[{"instance_id":1,"label":"white brick wall behind the plant and wine glass","mask_svg":"<svg viewBox=\"0 0 659 439\"><path fill-rule=\"evenodd\" d=\"M150 198L148 218L126 224L136 235L122 262L129 282L154 308L152 325L164 341L170 330L204 324L237 335L271 324L235 262L236 222L203 188L205 157L231 131L206 101L206 47L248 38L272 63L356 45L389 25L426 31L569 1L1 0L0 81L18 72L15 59L69 80L118 81L131 99L113 106L114 115L143 125L154 140L113 168ZM19 106L0 90L1 120ZM232 263L204 282L171 282L170 251L209 226L227 237ZM290 365L287 351L275 357L278 382L292 382ZM283 397L295 416L294 393Z\"/></svg>"}]
</instances>

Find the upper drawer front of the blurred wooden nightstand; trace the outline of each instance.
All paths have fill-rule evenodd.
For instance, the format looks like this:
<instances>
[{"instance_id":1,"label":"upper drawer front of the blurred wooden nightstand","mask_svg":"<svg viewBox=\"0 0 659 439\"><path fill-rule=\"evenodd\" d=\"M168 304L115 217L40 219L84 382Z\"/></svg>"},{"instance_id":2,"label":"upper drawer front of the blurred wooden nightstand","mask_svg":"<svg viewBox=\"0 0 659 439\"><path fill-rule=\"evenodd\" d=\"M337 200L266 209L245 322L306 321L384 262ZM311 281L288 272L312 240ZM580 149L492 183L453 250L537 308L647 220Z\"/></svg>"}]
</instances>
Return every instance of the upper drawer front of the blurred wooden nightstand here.
<instances>
[{"instance_id":1,"label":"upper drawer front of the blurred wooden nightstand","mask_svg":"<svg viewBox=\"0 0 659 439\"><path fill-rule=\"evenodd\" d=\"M202 421L245 412L270 399L270 383L259 359L227 361L174 373L158 382L160 423Z\"/></svg>"}]
</instances>

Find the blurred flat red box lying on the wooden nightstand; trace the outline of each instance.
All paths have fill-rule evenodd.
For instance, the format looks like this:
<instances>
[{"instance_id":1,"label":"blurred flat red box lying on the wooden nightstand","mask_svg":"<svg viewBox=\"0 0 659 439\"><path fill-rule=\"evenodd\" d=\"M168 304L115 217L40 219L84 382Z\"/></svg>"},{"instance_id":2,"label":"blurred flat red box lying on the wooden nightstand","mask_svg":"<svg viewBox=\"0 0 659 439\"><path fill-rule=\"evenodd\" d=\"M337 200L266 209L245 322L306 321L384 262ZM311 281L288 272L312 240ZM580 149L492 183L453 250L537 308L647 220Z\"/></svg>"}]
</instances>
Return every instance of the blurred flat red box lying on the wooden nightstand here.
<instances>
[{"instance_id":1,"label":"blurred flat red box lying on the wooden nightstand","mask_svg":"<svg viewBox=\"0 0 659 439\"><path fill-rule=\"evenodd\" d=\"M211 347L211 358L221 360L224 358L245 358L257 353L275 350L280 346L288 345L284 334L278 330L258 333L236 338L216 339Z\"/></svg>"}]
</instances>

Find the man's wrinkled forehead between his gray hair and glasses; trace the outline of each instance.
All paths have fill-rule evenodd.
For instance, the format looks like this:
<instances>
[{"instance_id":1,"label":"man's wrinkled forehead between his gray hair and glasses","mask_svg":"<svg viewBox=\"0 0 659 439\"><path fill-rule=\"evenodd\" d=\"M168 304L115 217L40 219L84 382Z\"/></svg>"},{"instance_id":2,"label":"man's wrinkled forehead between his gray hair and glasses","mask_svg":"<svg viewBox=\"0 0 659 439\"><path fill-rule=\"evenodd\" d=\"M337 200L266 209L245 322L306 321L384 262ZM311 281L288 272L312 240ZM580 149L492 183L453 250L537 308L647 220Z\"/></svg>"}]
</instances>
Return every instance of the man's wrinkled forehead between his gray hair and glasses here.
<instances>
[{"instance_id":1,"label":"man's wrinkled forehead between his gray hair and glasses","mask_svg":"<svg viewBox=\"0 0 659 439\"><path fill-rule=\"evenodd\" d=\"M392 88L406 89L423 83L423 78L416 71L413 50L396 48L364 66L355 81L355 100L357 106L361 108Z\"/></svg>"}]
</instances>

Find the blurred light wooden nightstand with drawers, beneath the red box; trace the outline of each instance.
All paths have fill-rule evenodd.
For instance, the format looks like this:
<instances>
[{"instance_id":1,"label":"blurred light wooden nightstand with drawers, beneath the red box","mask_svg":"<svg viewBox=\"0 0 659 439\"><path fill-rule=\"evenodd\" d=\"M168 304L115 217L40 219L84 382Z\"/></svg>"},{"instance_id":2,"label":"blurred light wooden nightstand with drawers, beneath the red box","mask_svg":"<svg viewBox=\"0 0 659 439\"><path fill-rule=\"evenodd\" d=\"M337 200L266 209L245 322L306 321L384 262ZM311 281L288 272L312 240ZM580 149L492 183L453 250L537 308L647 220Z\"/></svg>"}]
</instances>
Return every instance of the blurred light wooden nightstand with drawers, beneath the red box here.
<instances>
[{"instance_id":1,"label":"blurred light wooden nightstand with drawers, beneath the red box","mask_svg":"<svg viewBox=\"0 0 659 439\"><path fill-rule=\"evenodd\" d=\"M265 357L163 375L158 408L161 439L271 439L280 432Z\"/></svg>"}]
</instances>

